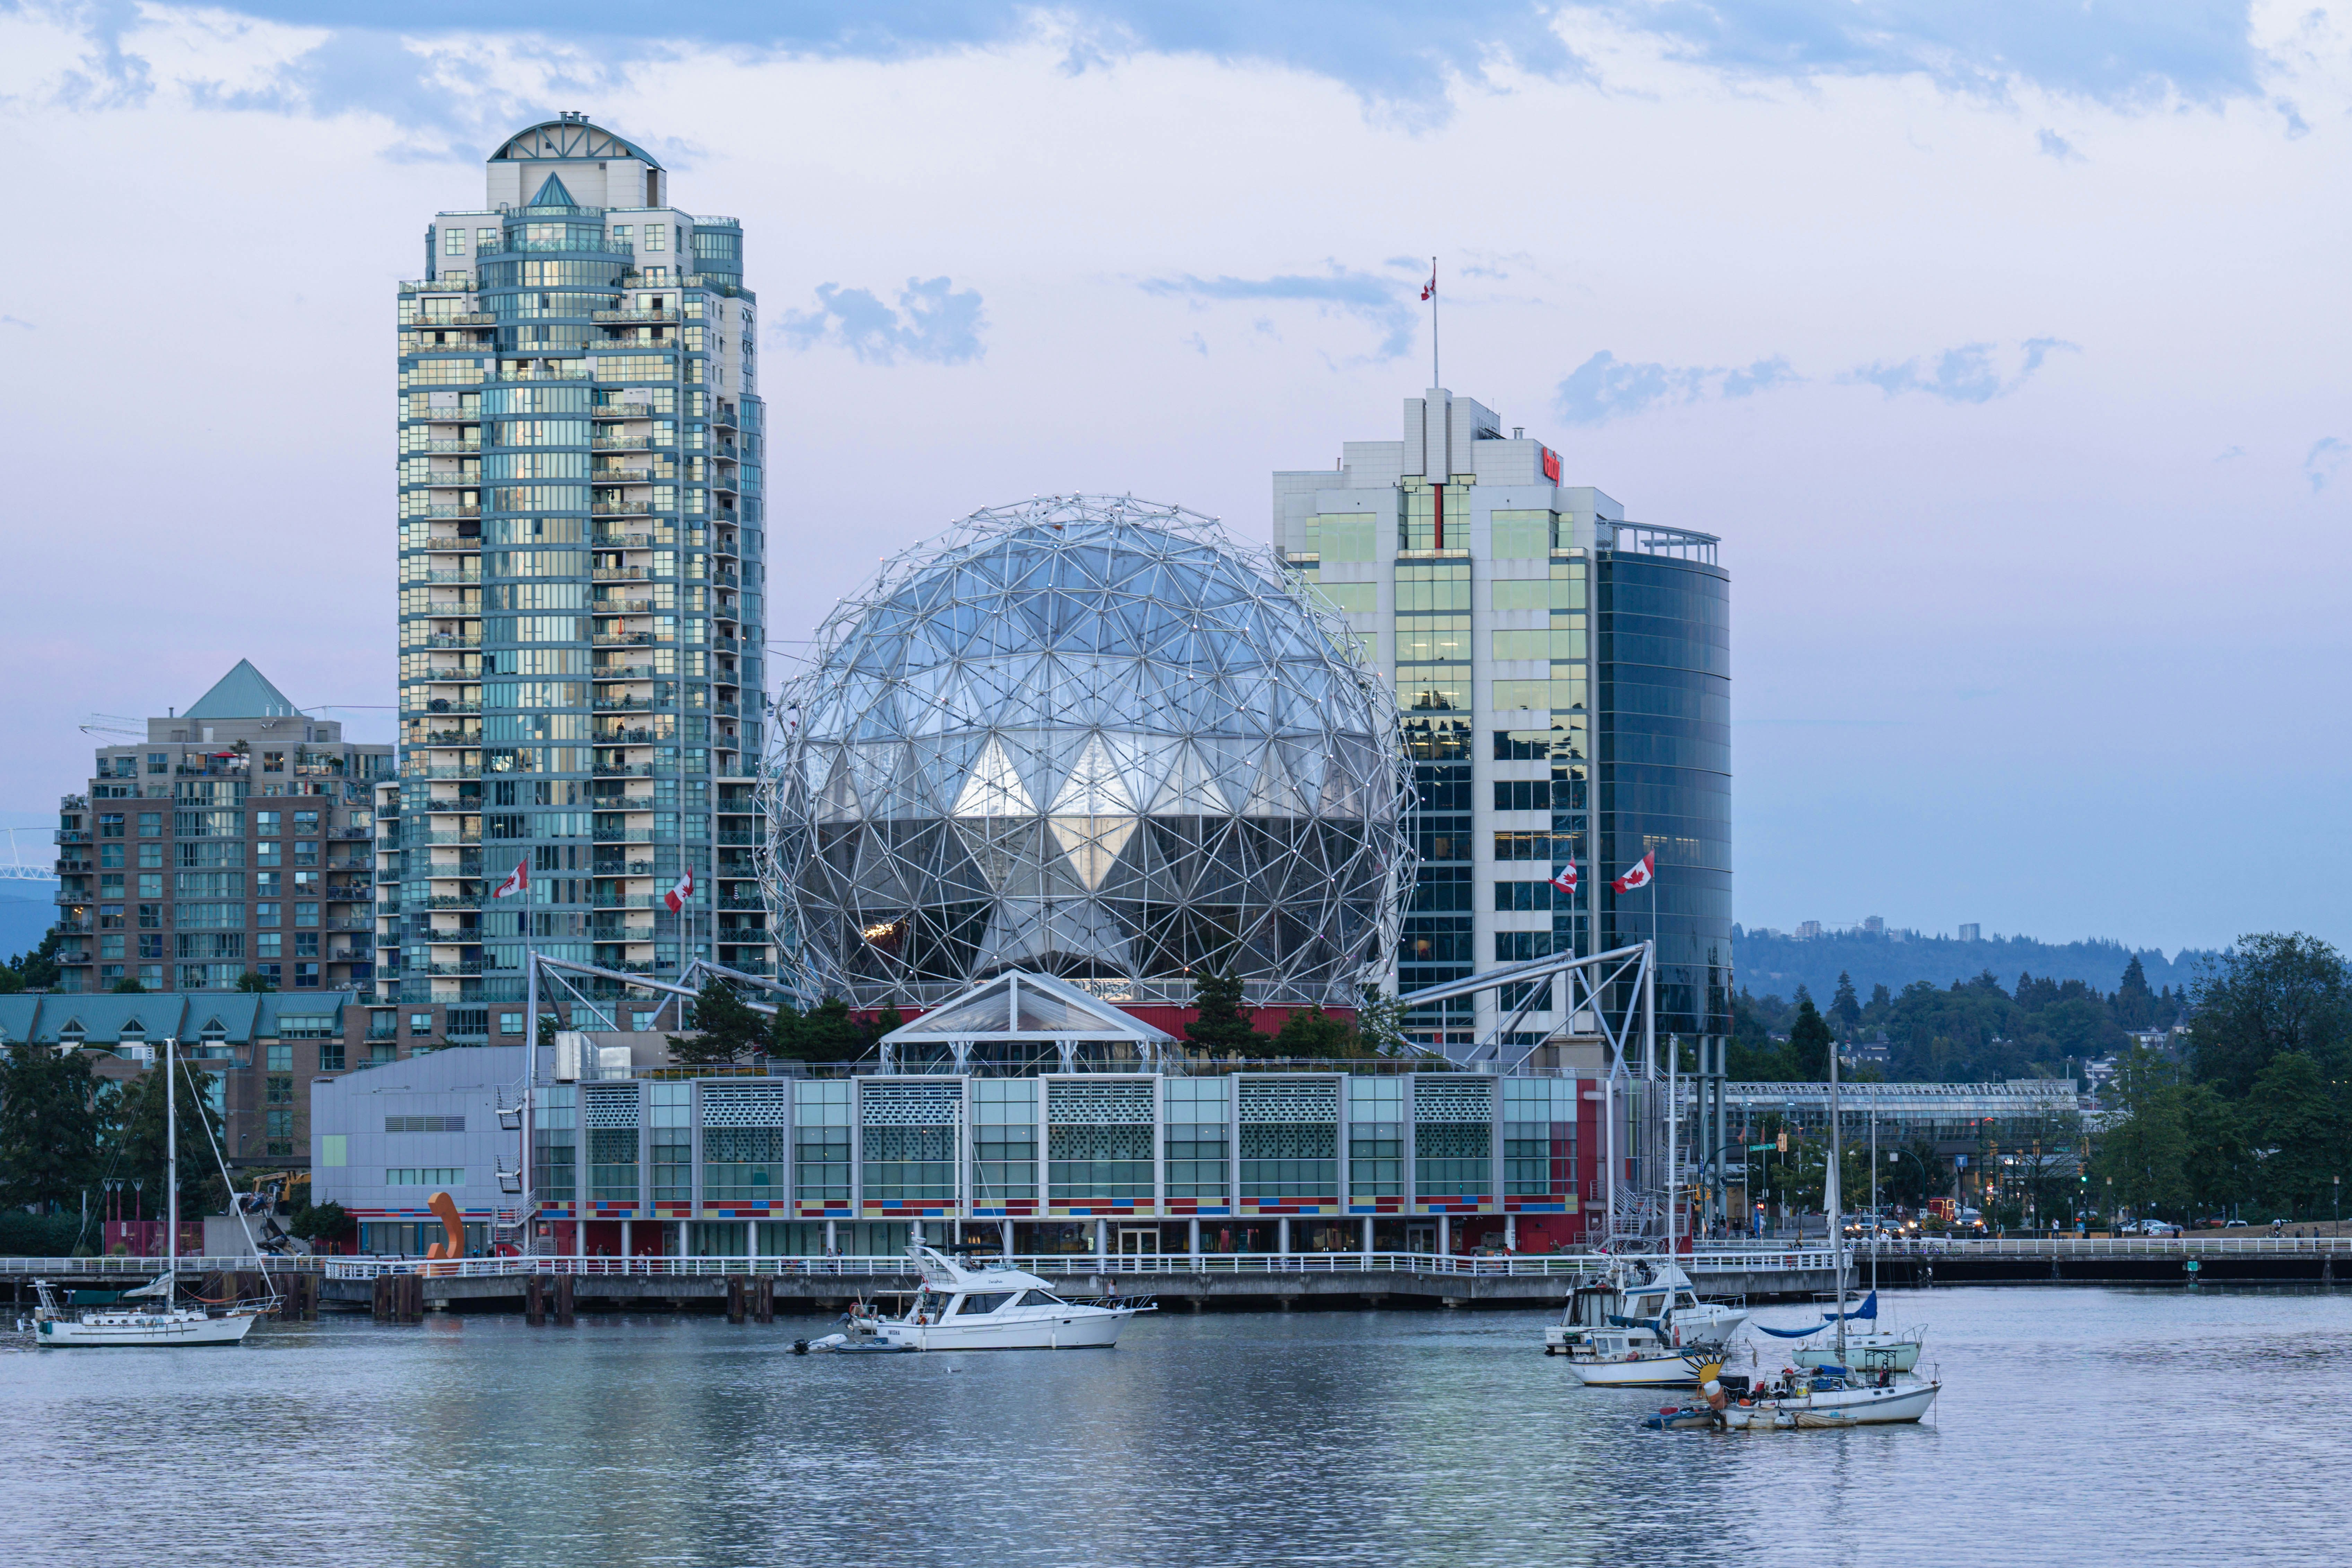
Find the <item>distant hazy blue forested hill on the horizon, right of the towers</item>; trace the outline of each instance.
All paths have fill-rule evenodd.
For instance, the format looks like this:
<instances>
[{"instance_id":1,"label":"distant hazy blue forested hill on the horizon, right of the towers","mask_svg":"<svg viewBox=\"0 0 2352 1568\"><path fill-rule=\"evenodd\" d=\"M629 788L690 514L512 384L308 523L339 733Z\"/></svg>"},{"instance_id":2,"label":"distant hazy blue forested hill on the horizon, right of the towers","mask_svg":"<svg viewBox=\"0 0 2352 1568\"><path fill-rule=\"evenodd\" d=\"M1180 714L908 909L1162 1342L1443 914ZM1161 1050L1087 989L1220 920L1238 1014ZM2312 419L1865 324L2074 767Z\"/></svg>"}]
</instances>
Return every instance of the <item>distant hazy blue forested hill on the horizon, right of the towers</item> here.
<instances>
[{"instance_id":1,"label":"distant hazy blue forested hill on the horizon, right of the towers","mask_svg":"<svg viewBox=\"0 0 2352 1568\"><path fill-rule=\"evenodd\" d=\"M1757 997L1795 999L1804 985L1813 1001L1830 1004L1837 992L1837 976L1851 973L1853 990L1863 997L1872 985L1884 985L1900 994L1912 980L1952 985L1973 980L1992 971L2004 987L2018 983L2020 973L2037 980L2082 980L2100 992L2112 992L2133 954L2147 971L2147 987L2183 990L2197 978L2206 959L2216 952L2183 947L2164 957L2161 947L2124 947L2112 940L2037 943L2030 936L1994 936L1964 943L1950 936L1919 936L1917 931L1823 931L1797 938L1778 931L1743 931L1731 926L1731 957L1736 983Z\"/></svg>"}]
</instances>

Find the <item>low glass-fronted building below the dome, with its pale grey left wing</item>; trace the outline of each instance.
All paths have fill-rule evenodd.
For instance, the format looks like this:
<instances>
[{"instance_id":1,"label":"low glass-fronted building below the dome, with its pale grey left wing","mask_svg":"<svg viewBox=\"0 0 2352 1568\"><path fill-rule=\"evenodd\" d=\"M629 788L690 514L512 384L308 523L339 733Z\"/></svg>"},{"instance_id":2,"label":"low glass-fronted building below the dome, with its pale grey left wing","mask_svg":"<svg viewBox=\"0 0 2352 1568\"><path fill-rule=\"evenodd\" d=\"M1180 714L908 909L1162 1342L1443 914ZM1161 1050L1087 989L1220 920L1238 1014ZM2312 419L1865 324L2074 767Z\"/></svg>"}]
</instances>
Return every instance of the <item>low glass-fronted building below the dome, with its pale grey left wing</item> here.
<instances>
[{"instance_id":1,"label":"low glass-fronted building below the dome, with its pale grey left wing","mask_svg":"<svg viewBox=\"0 0 2352 1568\"><path fill-rule=\"evenodd\" d=\"M795 1063L795 1070L800 1065ZM1336 1063L1261 1072L887 1072L541 1084L532 1244L560 1255L880 1255L917 1234L1030 1253L1522 1253L1585 1241L1590 1079ZM513 1197L522 1046L437 1051L315 1086L318 1201L367 1237L447 1190ZM1595 1204L1597 1208L1597 1204Z\"/></svg>"}]
</instances>

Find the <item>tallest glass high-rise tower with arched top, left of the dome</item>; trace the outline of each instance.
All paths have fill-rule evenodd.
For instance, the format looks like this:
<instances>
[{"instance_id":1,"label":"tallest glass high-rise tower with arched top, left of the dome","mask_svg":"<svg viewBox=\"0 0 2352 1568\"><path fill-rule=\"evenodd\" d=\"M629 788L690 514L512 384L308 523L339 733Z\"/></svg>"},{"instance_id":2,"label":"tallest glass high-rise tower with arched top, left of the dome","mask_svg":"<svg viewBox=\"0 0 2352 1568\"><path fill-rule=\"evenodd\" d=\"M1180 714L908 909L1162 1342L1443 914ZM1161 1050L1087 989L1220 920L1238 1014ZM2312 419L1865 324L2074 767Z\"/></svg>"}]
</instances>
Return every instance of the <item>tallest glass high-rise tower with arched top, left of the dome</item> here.
<instances>
[{"instance_id":1,"label":"tallest glass high-rise tower with arched top, left of the dome","mask_svg":"<svg viewBox=\"0 0 2352 1568\"><path fill-rule=\"evenodd\" d=\"M750 882L767 550L743 226L673 205L661 162L583 115L510 136L487 174L400 284L383 999L456 1009L459 1039L522 999L524 943L654 976L689 943L771 961ZM524 863L529 893L489 898Z\"/></svg>"}]
</instances>

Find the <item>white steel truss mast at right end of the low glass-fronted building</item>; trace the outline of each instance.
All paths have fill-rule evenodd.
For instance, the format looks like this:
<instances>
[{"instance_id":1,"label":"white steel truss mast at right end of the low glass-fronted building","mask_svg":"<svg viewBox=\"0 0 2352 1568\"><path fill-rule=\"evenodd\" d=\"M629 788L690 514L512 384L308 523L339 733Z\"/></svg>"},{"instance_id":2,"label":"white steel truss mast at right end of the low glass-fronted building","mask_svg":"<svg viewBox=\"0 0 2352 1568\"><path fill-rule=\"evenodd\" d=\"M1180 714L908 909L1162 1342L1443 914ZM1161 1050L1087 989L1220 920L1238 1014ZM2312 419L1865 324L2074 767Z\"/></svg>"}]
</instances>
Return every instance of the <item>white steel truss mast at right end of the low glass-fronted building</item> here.
<instances>
[{"instance_id":1,"label":"white steel truss mast at right end of the low glass-fronted building","mask_svg":"<svg viewBox=\"0 0 2352 1568\"><path fill-rule=\"evenodd\" d=\"M1609 1058L1609 1074L1602 1079L1602 1182L1606 1201L1606 1225L1602 1248L1611 1253L1672 1253L1677 1246L1677 1192L1679 1166L1679 1105L1682 1081L1677 1051L1665 1051L1658 1063L1658 950L1656 943L1611 947L1590 957L1555 952L1545 959L1503 964L1470 976L1425 985L1397 997L1404 1006L1428 1006L1479 992L1498 992L1496 1018L1501 1023L1484 1039L1456 1056L1444 1051L1458 1067L1491 1063L1491 1072L1515 1072L1526 1065L1536 1046L1510 1046L1517 1056L1505 1060L1505 1039L1536 1011L1538 999L1550 1004L1550 985L1536 985L1552 976L1564 978L1562 1018L1592 1020ZM1501 992L1510 985L1526 987L1519 1006L1508 1016ZM1578 999L1578 992L1583 994ZM1663 1093L1661 1093L1663 1091ZM1623 1110L1621 1110L1623 1107ZM1623 1121L1625 1157L1618 1157L1618 1131Z\"/></svg>"}]
</instances>

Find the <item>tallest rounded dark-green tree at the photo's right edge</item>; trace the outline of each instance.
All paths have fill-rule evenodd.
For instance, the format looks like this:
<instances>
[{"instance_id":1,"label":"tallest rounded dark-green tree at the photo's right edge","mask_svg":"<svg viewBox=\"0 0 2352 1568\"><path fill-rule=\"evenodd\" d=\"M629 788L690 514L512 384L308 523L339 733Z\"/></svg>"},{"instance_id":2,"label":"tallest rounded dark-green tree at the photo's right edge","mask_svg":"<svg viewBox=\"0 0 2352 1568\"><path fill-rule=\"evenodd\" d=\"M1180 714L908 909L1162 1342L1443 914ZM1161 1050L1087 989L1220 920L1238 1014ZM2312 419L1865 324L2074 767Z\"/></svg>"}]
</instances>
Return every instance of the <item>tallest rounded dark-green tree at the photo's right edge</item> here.
<instances>
[{"instance_id":1,"label":"tallest rounded dark-green tree at the photo's right edge","mask_svg":"<svg viewBox=\"0 0 2352 1568\"><path fill-rule=\"evenodd\" d=\"M2352 976L2333 945L2300 931L2241 936L2190 985L2190 1060L2199 1084L2244 1098L2272 1058L2298 1051L2321 1077L2345 1072Z\"/></svg>"}]
</instances>

